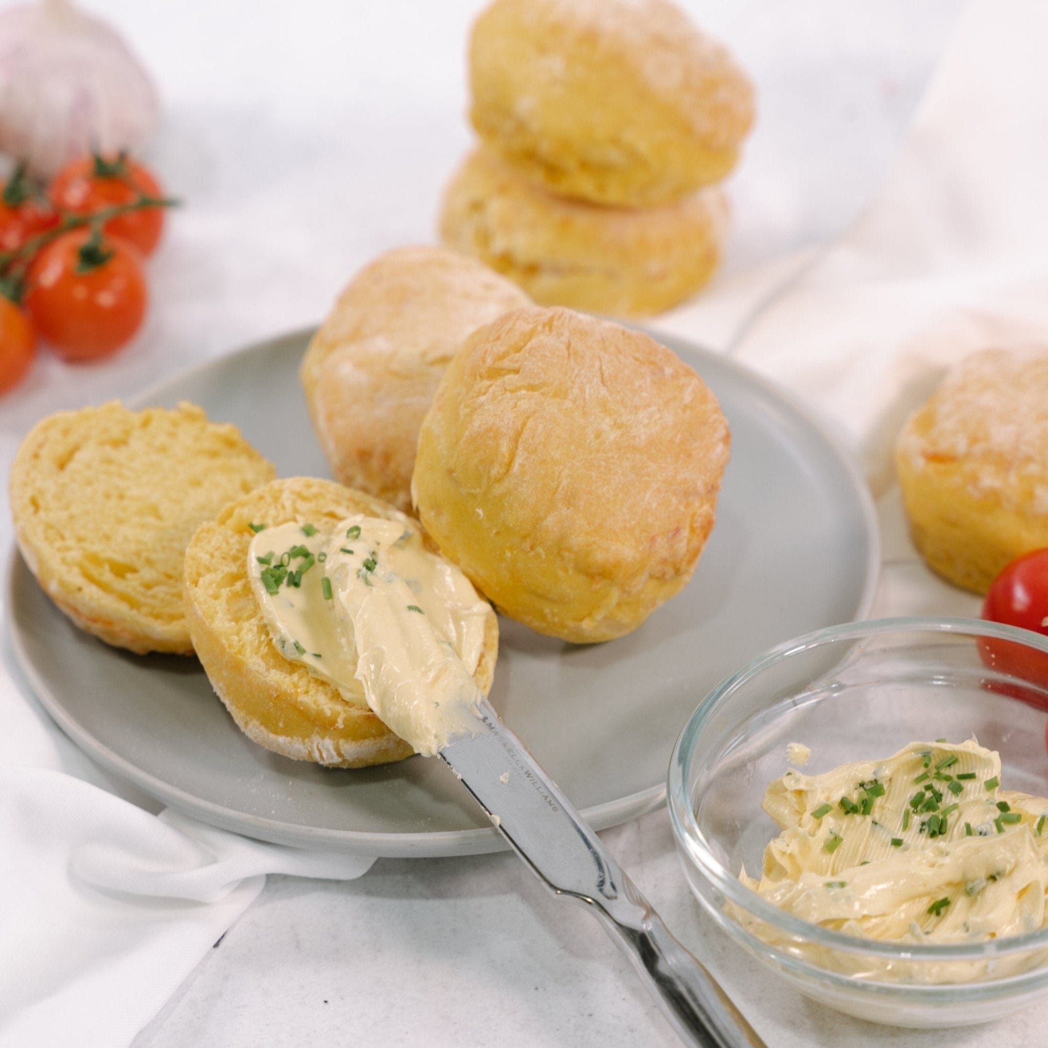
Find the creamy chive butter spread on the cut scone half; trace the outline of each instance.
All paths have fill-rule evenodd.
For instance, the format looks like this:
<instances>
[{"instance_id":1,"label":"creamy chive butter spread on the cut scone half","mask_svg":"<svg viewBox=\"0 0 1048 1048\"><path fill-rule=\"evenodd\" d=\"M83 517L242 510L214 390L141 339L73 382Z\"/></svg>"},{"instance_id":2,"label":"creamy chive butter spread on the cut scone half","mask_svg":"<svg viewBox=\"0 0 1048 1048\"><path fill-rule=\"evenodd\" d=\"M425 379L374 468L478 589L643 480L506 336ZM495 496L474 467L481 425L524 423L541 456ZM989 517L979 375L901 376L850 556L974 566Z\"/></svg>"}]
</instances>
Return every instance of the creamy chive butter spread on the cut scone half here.
<instances>
[{"instance_id":1,"label":"creamy chive butter spread on the cut scone half","mask_svg":"<svg viewBox=\"0 0 1048 1048\"><path fill-rule=\"evenodd\" d=\"M248 577L278 651L432 757L472 728L490 609L416 526L354 515L263 528Z\"/></svg>"}]
</instances>

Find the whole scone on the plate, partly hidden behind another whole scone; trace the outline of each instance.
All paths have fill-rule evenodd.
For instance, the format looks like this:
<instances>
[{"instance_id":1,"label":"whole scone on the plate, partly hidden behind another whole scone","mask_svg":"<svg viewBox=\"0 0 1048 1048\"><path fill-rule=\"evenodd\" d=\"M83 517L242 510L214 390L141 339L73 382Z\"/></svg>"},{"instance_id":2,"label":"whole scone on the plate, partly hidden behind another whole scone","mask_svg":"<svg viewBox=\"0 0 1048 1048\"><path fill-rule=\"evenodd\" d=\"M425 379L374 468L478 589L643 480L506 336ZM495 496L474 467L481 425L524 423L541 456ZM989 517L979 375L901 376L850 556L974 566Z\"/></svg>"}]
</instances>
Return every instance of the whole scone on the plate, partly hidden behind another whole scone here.
<instances>
[{"instance_id":1,"label":"whole scone on the plate, partly hidden behind another whole scone","mask_svg":"<svg viewBox=\"0 0 1048 1048\"><path fill-rule=\"evenodd\" d=\"M302 362L335 479L410 510L418 427L452 354L527 297L476 259L401 247L365 266Z\"/></svg>"}]
</instances>

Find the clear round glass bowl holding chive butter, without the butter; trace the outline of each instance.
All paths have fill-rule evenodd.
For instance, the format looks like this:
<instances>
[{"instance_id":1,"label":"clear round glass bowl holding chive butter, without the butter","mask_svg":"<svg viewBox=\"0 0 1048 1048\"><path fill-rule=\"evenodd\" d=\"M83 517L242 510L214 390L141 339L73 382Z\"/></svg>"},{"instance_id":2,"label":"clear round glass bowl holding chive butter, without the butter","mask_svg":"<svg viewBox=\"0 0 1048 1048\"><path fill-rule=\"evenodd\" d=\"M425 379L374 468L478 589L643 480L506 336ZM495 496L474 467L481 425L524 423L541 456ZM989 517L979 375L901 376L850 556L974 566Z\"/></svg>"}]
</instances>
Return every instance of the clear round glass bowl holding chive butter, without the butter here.
<instances>
[{"instance_id":1,"label":"clear round glass bowl holding chive butter, without the butter","mask_svg":"<svg viewBox=\"0 0 1048 1048\"><path fill-rule=\"evenodd\" d=\"M1000 754L1002 788L1048 798L1048 681L996 669L1002 645L1011 656L1029 649L1034 664L1048 652L1039 634L976 619L832 627L743 667L681 733L669 803L692 890L737 942L820 1004L896 1026L962 1026L1048 992L1048 927L948 945L916 934L883 941L811 923L739 880L743 866L760 876L780 833L761 802L787 771L789 743L810 747L802 773L820 774L911 742L975 736Z\"/></svg>"}]
</instances>

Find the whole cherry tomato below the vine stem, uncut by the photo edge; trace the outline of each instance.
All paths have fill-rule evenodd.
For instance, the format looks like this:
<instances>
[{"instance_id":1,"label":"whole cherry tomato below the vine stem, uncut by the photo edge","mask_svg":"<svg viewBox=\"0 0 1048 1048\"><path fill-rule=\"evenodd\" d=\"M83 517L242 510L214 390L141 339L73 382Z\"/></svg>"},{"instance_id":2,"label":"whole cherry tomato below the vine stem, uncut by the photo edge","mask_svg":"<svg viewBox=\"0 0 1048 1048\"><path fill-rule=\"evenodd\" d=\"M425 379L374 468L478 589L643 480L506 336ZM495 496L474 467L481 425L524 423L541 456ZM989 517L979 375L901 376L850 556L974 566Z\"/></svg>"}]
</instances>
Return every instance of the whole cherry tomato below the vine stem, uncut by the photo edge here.
<instances>
[{"instance_id":1,"label":"whole cherry tomato below the vine stem, uncut by the photo edge","mask_svg":"<svg viewBox=\"0 0 1048 1048\"><path fill-rule=\"evenodd\" d=\"M25 307L67 361L107 356L131 341L149 299L141 255L116 237L73 230L48 244L26 274Z\"/></svg>"}]
</instances>

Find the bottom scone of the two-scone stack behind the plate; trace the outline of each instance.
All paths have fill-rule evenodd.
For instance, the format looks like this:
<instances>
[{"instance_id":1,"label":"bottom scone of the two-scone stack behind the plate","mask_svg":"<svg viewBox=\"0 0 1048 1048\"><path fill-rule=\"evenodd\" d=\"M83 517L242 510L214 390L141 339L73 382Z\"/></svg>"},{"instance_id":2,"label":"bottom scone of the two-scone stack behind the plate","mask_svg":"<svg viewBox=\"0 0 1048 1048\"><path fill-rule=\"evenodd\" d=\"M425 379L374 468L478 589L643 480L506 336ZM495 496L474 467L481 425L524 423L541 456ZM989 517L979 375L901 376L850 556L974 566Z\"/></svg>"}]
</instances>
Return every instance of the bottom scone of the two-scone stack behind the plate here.
<instances>
[{"instance_id":1,"label":"bottom scone of the two-scone stack behind the plate","mask_svg":"<svg viewBox=\"0 0 1048 1048\"><path fill-rule=\"evenodd\" d=\"M476 255L545 305L618 316L661 312L713 276L727 201L702 190L662 208L602 208L553 196L488 149L459 168L444 194L440 236Z\"/></svg>"}]
</instances>

